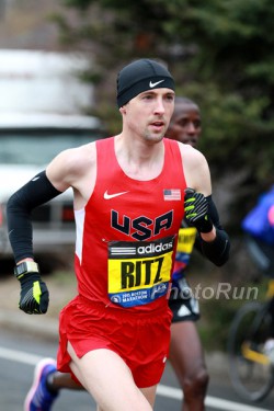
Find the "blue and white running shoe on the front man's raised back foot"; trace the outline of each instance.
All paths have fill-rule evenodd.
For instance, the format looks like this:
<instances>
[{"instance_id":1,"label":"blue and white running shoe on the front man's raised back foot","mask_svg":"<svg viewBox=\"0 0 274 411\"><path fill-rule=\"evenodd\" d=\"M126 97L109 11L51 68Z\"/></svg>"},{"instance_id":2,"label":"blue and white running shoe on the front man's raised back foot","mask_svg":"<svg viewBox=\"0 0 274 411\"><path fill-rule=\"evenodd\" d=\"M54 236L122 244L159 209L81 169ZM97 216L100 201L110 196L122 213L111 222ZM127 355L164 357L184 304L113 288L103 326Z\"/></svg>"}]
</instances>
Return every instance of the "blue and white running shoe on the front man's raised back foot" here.
<instances>
[{"instance_id":1,"label":"blue and white running shoe on the front man's raised back foot","mask_svg":"<svg viewBox=\"0 0 274 411\"><path fill-rule=\"evenodd\" d=\"M47 376L56 372L56 362L44 358L35 367L33 385L25 398L24 411L49 411L58 392L52 393L46 386Z\"/></svg>"}]
</instances>

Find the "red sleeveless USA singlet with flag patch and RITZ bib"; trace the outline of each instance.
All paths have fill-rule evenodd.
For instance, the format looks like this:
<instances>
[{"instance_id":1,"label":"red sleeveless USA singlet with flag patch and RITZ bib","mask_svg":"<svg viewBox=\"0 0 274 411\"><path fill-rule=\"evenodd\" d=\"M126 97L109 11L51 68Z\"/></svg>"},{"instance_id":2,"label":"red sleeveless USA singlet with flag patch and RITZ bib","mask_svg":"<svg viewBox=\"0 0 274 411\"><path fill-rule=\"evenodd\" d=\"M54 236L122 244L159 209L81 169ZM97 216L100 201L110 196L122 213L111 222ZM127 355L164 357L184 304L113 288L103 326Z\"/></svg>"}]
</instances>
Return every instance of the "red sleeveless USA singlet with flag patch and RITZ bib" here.
<instances>
[{"instance_id":1,"label":"red sleeveless USA singlet with flag patch and RITZ bib","mask_svg":"<svg viewBox=\"0 0 274 411\"><path fill-rule=\"evenodd\" d=\"M139 181L119 167L114 137L96 141L94 191L76 212L78 287L91 301L144 311L167 305L186 184L178 142L163 142L162 171Z\"/></svg>"}]
</instances>

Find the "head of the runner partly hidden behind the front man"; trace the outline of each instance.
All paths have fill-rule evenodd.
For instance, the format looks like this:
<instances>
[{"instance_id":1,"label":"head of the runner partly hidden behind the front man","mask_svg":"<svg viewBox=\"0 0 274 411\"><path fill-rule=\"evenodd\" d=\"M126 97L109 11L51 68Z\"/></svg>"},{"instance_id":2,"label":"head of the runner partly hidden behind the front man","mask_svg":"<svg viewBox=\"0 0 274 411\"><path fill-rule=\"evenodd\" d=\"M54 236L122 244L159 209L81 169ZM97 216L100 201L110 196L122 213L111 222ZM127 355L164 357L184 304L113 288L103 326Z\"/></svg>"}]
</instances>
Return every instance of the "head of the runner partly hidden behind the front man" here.
<instances>
[{"instance_id":1,"label":"head of the runner partly hidden behind the front man","mask_svg":"<svg viewBox=\"0 0 274 411\"><path fill-rule=\"evenodd\" d=\"M198 107L195 104L176 103L167 137L196 147L201 133Z\"/></svg>"}]
</instances>

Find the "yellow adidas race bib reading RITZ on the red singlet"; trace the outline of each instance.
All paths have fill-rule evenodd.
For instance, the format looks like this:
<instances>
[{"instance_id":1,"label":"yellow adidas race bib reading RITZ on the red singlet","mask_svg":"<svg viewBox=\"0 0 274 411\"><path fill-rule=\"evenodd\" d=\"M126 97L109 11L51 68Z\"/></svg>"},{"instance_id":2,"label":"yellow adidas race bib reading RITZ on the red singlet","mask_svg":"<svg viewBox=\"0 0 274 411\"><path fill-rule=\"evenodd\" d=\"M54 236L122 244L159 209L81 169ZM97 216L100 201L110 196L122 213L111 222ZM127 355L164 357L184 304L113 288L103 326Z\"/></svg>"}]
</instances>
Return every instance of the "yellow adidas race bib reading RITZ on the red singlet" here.
<instances>
[{"instance_id":1,"label":"yellow adidas race bib reading RITZ on the red singlet","mask_svg":"<svg viewBox=\"0 0 274 411\"><path fill-rule=\"evenodd\" d=\"M109 297L122 307L153 301L168 293L174 237L109 243Z\"/></svg>"}]
</instances>

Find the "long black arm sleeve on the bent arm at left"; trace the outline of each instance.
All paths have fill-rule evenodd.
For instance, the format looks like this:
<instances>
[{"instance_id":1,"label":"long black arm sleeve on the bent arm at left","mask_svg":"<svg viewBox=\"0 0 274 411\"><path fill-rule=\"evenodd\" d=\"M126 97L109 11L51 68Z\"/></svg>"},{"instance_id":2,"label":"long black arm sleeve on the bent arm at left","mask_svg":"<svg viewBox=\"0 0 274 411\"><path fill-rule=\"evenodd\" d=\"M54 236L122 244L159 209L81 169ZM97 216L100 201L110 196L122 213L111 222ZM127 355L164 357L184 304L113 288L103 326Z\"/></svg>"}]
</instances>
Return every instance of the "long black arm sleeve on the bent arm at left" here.
<instances>
[{"instance_id":1,"label":"long black arm sleeve on the bent arm at left","mask_svg":"<svg viewBox=\"0 0 274 411\"><path fill-rule=\"evenodd\" d=\"M9 198L7 220L15 262L27 256L33 258L33 229L31 221L33 208L47 203L59 194L61 192L53 186L46 176L46 172L42 171Z\"/></svg>"}]
</instances>

